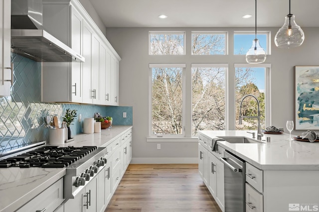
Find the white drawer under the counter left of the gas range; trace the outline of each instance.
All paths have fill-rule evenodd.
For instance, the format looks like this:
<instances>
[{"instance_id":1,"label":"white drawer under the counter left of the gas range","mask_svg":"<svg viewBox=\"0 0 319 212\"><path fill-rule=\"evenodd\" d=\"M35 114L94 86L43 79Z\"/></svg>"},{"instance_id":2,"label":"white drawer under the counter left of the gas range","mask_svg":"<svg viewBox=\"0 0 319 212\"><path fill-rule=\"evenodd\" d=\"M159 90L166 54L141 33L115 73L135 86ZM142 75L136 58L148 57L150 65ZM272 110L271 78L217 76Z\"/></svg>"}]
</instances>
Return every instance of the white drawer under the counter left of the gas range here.
<instances>
[{"instance_id":1,"label":"white drawer under the counter left of the gas range","mask_svg":"<svg viewBox=\"0 0 319 212\"><path fill-rule=\"evenodd\" d=\"M33 198L30 202L25 204L17 212L35 212L43 211L53 212L63 202L63 178L55 182L49 188L44 190L38 196Z\"/></svg>"}]
</instances>

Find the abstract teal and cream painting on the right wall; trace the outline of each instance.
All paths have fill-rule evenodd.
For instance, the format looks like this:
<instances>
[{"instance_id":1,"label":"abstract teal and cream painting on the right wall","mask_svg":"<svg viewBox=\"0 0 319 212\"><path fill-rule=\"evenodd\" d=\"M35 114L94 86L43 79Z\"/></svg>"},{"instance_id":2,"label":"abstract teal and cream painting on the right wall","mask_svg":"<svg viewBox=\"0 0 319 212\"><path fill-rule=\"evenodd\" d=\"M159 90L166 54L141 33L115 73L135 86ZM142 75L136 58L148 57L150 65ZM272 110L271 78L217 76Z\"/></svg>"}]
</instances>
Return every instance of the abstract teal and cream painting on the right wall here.
<instances>
[{"instance_id":1,"label":"abstract teal and cream painting on the right wall","mask_svg":"<svg viewBox=\"0 0 319 212\"><path fill-rule=\"evenodd\" d=\"M319 130L319 66L295 66L295 129Z\"/></svg>"}]
</instances>

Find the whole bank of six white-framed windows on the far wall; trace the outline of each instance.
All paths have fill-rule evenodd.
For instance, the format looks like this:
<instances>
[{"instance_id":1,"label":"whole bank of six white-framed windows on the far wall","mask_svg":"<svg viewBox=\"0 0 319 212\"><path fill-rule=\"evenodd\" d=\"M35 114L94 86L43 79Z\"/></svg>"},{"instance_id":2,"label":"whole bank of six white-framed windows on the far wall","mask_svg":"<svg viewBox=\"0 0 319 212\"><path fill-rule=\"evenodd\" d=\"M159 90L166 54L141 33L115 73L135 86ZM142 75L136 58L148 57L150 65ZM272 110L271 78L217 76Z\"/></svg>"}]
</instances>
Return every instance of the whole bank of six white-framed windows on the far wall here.
<instances>
[{"instance_id":1,"label":"whole bank of six white-framed windows on the far wall","mask_svg":"<svg viewBox=\"0 0 319 212\"><path fill-rule=\"evenodd\" d=\"M148 141L158 142L157 137L187 141L196 137L198 130L257 130L254 118L244 118L239 125L240 103L248 94L259 101L262 129L270 126L271 64L247 64L243 57L255 38L254 32L234 33L231 48L241 54L235 57L227 55L228 32L187 33L191 38L185 43L185 32L149 32L149 51L154 56L148 57ZM270 32L257 33L269 54ZM243 64L234 63L239 59ZM219 64L221 60L224 64ZM229 68L229 64L233 67ZM257 111L255 99L245 98L242 115L257 116Z\"/></svg>"}]
</instances>

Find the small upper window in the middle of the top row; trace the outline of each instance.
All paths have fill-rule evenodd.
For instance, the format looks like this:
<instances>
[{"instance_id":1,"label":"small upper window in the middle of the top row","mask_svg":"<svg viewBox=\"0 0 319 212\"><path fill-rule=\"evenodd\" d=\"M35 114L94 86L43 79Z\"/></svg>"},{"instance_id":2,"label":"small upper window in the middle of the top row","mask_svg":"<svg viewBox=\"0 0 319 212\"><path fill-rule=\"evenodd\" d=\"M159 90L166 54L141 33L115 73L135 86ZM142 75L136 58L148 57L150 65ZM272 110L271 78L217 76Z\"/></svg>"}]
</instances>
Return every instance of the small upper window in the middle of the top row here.
<instances>
[{"instance_id":1,"label":"small upper window in the middle of the top row","mask_svg":"<svg viewBox=\"0 0 319 212\"><path fill-rule=\"evenodd\" d=\"M192 32L192 55L226 55L226 32Z\"/></svg>"}]
</instances>

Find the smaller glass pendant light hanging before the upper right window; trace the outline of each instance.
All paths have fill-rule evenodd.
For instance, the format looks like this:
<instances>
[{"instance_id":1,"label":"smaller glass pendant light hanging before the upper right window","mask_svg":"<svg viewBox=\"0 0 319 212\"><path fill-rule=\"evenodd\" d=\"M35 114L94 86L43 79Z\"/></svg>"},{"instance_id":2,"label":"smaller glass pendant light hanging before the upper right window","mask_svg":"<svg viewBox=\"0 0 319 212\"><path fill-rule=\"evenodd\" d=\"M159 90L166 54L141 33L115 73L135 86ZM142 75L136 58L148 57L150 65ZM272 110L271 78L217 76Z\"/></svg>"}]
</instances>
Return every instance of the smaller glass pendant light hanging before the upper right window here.
<instances>
[{"instance_id":1,"label":"smaller glass pendant light hanging before the upper right window","mask_svg":"<svg viewBox=\"0 0 319 212\"><path fill-rule=\"evenodd\" d=\"M266 51L260 46L257 39L257 0L255 0L255 39L253 45L246 53L246 61L249 64L264 63L266 60Z\"/></svg>"}]
</instances>

